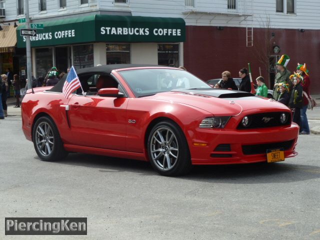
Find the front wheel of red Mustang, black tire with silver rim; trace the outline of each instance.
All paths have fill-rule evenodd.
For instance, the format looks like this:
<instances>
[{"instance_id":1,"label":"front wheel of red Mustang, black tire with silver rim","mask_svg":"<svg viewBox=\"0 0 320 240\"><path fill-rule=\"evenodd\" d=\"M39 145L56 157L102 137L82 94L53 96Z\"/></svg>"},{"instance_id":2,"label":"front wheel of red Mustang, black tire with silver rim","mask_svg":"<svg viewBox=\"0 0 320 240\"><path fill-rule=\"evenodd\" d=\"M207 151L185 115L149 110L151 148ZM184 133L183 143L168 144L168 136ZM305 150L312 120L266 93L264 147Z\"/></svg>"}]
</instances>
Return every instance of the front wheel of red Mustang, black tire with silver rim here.
<instances>
[{"instance_id":1,"label":"front wheel of red Mustang, black tire with silver rim","mask_svg":"<svg viewBox=\"0 0 320 240\"><path fill-rule=\"evenodd\" d=\"M171 121L155 124L148 136L147 152L152 167L161 175L177 176L191 170L189 147L180 127Z\"/></svg>"}]
</instances>

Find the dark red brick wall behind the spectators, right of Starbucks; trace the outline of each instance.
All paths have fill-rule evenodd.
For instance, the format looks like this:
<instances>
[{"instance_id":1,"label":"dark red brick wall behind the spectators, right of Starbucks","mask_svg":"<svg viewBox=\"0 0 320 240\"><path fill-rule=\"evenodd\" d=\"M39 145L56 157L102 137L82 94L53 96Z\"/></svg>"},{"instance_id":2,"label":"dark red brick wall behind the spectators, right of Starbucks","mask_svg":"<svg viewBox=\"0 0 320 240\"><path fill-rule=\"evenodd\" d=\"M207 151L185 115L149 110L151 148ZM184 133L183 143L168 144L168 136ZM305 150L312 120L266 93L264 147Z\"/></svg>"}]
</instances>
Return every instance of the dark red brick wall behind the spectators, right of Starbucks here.
<instances>
[{"instance_id":1,"label":"dark red brick wall behind the spectators, right of Starbucks","mask_svg":"<svg viewBox=\"0 0 320 240\"><path fill-rule=\"evenodd\" d=\"M267 68L258 60L261 56L257 51L265 43L265 29L253 29L253 47L246 47L246 29L242 27L223 27L218 30L216 26L186 26L186 40L184 42L184 66L193 74L203 80L219 78L221 72L228 70L232 77L238 77L242 67L247 68L250 62L252 77L261 75L269 84ZM269 29L271 45L278 45L278 55L287 54L290 61L288 70L293 72L297 62L304 62L309 69L311 80L310 91L320 93L320 30L298 29ZM271 38L271 32L274 37ZM265 50L264 50L265 51ZM275 54L270 52L270 54Z\"/></svg>"}]
</instances>

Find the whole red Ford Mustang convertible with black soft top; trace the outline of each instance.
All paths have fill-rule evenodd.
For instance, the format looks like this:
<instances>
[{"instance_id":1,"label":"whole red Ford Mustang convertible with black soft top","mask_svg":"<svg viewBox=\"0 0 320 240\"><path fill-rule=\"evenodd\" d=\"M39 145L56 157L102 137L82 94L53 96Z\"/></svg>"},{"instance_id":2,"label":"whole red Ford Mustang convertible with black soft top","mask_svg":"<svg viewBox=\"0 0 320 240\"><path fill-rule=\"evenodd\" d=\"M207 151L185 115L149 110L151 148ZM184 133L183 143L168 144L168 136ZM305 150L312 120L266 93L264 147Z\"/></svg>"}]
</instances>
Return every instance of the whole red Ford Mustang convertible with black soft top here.
<instances>
[{"instance_id":1,"label":"whole red Ford Mustang convertible with black soft top","mask_svg":"<svg viewBox=\"0 0 320 240\"><path fill-rule=\"evenodd\" d=\"M291 111L248 92L211 88L173 67L116 64L77 71L68 98L65 78L27 91L22 129L45 161L85 152L150 161L162 175L192 164L282 161L297 154Z\"/></svg>"}]
</instances>

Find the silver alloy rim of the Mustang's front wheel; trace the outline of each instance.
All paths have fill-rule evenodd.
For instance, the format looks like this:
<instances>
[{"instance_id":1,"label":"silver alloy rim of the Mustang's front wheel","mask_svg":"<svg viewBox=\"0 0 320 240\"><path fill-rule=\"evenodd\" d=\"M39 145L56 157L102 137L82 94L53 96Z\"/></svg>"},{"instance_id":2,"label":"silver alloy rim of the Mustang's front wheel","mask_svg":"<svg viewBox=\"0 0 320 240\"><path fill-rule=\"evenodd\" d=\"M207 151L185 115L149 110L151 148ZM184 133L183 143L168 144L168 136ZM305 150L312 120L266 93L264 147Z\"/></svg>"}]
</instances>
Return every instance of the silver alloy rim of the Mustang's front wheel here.
<instances>
[{"instance_id":1,"label":"silver alloy rim of the Mustang's front wheel","mask_svg":"<svg viewBox=\"0 0 320 240\"><path fill-rule=\"evenodd\" d=\"M157 128L151 137L150 152L152 161L162 171L170 170L177 162L179 146L170 128Z\"/></svg>"}]
</instances>

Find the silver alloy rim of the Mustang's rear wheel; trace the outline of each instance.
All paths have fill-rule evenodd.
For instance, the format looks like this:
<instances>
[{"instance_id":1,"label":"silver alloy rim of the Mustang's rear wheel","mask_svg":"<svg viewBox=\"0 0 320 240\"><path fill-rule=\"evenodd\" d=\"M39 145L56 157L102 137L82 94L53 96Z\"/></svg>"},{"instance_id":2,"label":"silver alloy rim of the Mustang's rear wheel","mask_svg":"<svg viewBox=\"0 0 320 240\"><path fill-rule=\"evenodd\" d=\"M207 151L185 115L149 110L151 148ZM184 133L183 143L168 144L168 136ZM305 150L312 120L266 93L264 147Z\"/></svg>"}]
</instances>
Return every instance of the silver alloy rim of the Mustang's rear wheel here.
<instances>
[{"instance_id":1,"label":"silver alloy rim of the Mustang's rear wheel","mask_svg":"<svg viewBox=\"0 0 320 240\"><path fill-rule=\"evenodd\" d=\"M51 126L47 122L41 122L35 131L36 148L43 156L48 156L53 150L54 136Z\"/></svg>"}]
</instances>

